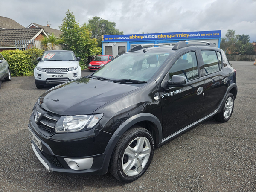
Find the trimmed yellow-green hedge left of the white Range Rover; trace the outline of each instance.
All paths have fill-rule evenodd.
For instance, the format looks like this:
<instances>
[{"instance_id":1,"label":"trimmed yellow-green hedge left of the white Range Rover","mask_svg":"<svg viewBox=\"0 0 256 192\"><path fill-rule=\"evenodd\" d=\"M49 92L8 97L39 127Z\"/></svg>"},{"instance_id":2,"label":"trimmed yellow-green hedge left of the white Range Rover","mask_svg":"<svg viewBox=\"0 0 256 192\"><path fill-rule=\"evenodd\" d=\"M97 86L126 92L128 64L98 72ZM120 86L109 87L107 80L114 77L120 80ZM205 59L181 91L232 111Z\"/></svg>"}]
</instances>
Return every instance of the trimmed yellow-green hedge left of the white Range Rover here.
<instances>
[{"instance_id":1,"label":"trimmed yellow-green hedge left of the white Range Rover","mask_svg":"<svg viewBox=\"0 0 256 192\"><path fill-rule=\"evenodd\" d=\"M31 76L38 64L36 58L42 57L44 50L28 49L26 51L9 50L1 54L8 62L12 76Z\"/></svg>"}]
</instances>

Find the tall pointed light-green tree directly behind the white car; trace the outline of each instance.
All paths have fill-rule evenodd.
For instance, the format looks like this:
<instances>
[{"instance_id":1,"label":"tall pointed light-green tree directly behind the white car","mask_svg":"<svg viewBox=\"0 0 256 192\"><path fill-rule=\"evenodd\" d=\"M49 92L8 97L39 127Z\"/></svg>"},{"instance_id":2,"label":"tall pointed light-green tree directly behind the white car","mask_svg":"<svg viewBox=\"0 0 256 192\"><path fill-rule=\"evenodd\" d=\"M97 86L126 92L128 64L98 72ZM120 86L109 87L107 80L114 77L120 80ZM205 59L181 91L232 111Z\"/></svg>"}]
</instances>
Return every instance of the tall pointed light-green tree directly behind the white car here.
<instances>
[{"instance_id":1,"label":"tall pointed light-green tree directly behind the white car","mask_svg":"<svg viewBox=\"0 0 256 192\"><path fill-rule=\"evenodd\" d=\"M80 64L86 64L87 57L101 53L101 49L97 47L97 39L92 38L87 24L79 26L75 15L70 10L67 10L60 29L63 44L66 44L69 50L72 50L77 57L81 58Z\"/></svg>"}]
</instances>

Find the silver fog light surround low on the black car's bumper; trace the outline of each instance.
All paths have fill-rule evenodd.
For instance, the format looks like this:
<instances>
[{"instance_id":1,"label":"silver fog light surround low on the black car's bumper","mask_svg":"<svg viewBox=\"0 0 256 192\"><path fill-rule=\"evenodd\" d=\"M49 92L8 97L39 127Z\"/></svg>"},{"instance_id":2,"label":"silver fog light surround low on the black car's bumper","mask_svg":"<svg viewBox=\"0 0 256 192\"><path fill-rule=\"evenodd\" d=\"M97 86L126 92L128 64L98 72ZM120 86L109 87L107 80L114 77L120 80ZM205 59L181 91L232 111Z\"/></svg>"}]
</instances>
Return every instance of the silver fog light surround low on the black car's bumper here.
<instances>
[{"instance_id":1,"label":"silver fog light surround low on the black car's bumper","mask_svg":"<svg viewBox=\"0 0 256 192\"><path fill-rule=\"evenodd\" d=\"M93 166L93 158L84 158L84 159L70 159L64 158L67 162L67 165L76 171L90 169Z\"/></svg>"}]
</instances>

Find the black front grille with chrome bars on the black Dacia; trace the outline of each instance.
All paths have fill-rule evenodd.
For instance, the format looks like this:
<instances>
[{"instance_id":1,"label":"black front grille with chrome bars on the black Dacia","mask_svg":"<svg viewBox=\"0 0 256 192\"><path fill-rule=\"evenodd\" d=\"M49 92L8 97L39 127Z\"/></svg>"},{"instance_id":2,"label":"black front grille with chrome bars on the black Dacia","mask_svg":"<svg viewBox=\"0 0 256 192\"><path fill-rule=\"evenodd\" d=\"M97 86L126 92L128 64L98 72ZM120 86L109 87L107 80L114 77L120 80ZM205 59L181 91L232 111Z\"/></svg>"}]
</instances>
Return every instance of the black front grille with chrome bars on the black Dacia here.
<instances>
[{"instance_id":1,"label":"black front grille with chrome bars on the black Dacia","mask_svg":"<svg viewBox=\"0 0 256 192\"><path fill-rule=\"evenodd\" d=\"M61 116L56 113L52 113L50 111L44 110L38 105L38 103L36 104L36 108L34 110L35 110L33 113L34 119L37 111L40 111L40 113L43 115L40 122L37 123L39 129L43 130L41 131L41 133L44 134L44 131L47 132L48 134L44 134L47 137L55 134L56 132L55 132L54 126Z\"/></svg>"}]
</instances>

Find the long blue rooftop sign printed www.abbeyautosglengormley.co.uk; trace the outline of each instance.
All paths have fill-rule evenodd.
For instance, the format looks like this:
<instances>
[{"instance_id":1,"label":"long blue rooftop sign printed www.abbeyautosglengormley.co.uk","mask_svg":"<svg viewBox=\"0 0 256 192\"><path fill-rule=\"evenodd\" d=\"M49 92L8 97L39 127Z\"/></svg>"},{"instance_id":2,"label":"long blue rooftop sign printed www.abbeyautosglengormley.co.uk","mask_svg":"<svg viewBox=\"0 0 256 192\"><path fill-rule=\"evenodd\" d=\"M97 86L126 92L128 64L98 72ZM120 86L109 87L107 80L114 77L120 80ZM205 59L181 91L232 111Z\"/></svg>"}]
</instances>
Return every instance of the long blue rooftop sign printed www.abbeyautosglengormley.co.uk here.
<instances>
[{"instance_id":1,"label":"long blue rooftop sign printed www.abbeyautosglengormley.co.uk","mask_svg":"<svg viewBox=\"0 0 256 192\"><path fill-rule=\"evenodd\" d=\"M103 41L136 41L136 40L164 40L189 38L220 38L221 31L175 32L134 35L104 35Z\"/></svg>"}]
</instances>

